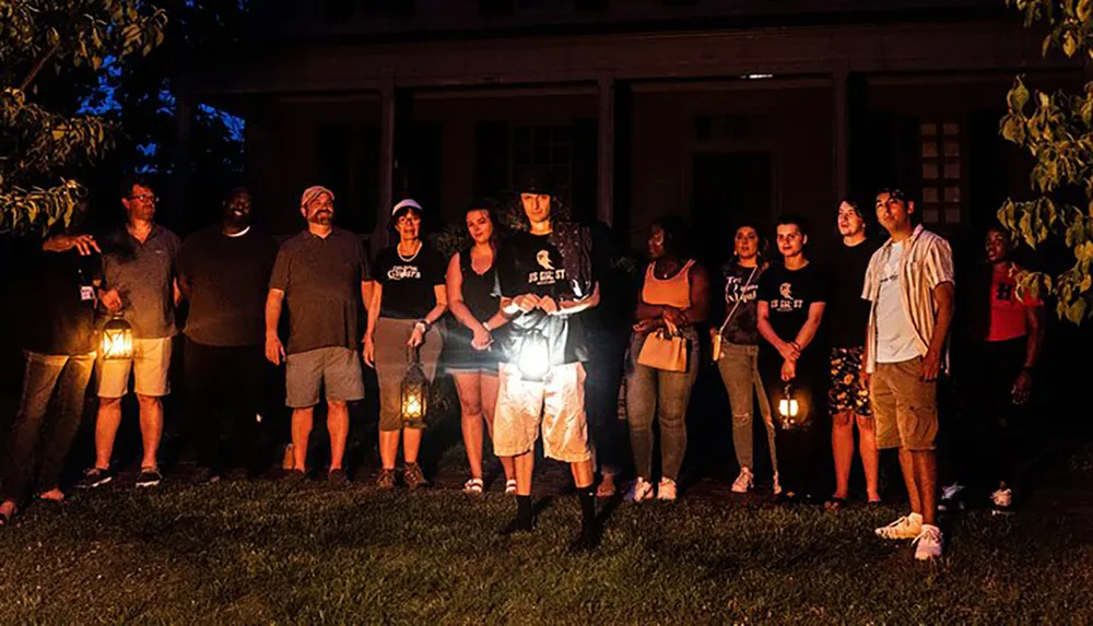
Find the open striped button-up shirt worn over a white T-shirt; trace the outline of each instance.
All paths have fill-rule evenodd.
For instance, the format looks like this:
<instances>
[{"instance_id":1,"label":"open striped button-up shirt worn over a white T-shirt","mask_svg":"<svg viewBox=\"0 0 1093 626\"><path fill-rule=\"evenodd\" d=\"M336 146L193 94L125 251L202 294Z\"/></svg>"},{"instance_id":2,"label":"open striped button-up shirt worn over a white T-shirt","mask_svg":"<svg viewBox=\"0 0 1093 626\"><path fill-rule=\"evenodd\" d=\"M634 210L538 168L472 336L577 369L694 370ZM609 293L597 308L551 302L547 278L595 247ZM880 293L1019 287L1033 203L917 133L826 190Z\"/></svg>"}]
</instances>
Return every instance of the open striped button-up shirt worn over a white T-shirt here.
<instances>
[{"instance_id":1,"label":"open striped button-up shirt worn over a white T-shirt","mask_svg":"<svg viewBox=\"0 0 1093 626\"><path fill-rule=\"evenodd\" d=\"M919 354L926 356L930 340L933 338L933 324L938 312L933 290L942 283L956 282L953 252L949 241L922 228L921 224L915 228L910 238L906 239L904 248L900 259L900 302L907 320L915 329ZM877 300L880 298L884 265L888 264L891 255L892 239L889 239L870 259L861 291L861 297L872 303L866 334L868 352L866 371L870 374L877 369ZM949 368L948 346L941 358L941 367L945 370Z\"/></svg>"}]
</instances>

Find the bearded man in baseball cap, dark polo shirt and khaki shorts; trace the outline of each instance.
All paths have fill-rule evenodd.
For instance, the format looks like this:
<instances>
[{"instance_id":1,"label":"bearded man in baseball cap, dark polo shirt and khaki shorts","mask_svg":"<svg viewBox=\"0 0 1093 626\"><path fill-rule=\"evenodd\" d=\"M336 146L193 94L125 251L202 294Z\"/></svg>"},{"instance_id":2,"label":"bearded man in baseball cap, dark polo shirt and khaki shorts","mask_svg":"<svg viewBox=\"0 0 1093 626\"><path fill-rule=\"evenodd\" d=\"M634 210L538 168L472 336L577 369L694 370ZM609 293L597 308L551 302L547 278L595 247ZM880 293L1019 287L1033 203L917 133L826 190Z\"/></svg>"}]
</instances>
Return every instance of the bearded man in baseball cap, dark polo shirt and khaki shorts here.
<instances>
[{"instance_id":1,"label":"bearded man in baseball cap, dark polo shirt and khaki shorts","mask_svg":"<svg viewBox=\"0 0 1093 626\"><path fill-rule=\"evenodd\" d=\"M312 433L319 389L326 391L330 433L328 480L343 484L342 466L349 436L349 402L364 398L360 306L372 295L367 257L361 240L333 226L334 194L309 187L299 201L307 228L281 246L266 299L266 358L286 363L285 403L292 408L293 469L306 473L307 439ZM290 333L285 349L278 336L282 304L287 300Z\"/></svg>"}]
</instances>

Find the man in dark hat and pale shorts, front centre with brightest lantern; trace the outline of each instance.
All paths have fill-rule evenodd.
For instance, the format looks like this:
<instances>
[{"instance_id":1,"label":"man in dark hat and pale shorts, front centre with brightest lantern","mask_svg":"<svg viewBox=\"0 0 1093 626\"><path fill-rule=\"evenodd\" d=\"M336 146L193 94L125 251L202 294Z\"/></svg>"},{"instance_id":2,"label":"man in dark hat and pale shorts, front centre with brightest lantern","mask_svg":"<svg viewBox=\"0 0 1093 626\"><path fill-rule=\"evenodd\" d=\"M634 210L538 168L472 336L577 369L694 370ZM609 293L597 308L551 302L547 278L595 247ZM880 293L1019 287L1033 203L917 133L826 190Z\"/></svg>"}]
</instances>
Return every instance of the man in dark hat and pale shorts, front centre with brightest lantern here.
<instances>
[{"instance_id":1,"label":"man in dark hat and pale shorts, front centre with brightest lantern","mask_svg":"<svg viewBox=\"0 0 1093 626\"><path fill-rule=\"evenodd\" d=\"M494 452L515 459L518 508L510 528L529 531L541 421L545 456L569 463L581 505L579 543L590 547L597 539L596 494L581 365L587 351L578 314L600 299L591 273L591 236L587 228L552 222L554 198L541 179L526 180L520 191L530 229L506 241L496 263L501 310L512 326L498 373Z\"/></svg>"}]
</instances>

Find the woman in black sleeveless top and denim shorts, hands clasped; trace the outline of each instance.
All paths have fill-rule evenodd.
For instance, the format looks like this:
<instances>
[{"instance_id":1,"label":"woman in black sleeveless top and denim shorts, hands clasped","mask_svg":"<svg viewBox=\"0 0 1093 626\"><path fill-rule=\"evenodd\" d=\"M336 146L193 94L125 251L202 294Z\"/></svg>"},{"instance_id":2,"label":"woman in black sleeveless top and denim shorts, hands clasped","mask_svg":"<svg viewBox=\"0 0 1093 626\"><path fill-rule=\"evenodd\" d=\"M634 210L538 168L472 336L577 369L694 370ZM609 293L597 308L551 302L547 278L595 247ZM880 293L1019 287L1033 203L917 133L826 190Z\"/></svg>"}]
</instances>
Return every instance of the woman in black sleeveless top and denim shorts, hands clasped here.
<instances>
[{"instance_id":1,"label":"woman in black sleeveless top and denim shorts, hands clasped","mask_svg":"<svg viewBox=\"0 0 1093 626\"><path fill-rule=\"evenodd\" d=\"M497 220L492 203L480 201L467 208L470 247L448 262L448 306L459 326L448 333L447 368L456 379L462 415L463 445L471 466L471 477L463 492L479 495L482 482L482 421L493 433L493 410L497 404L497 364L500 345L495 340L508 318L500 315L501 290L497 285ZM513 458L502 457L505 494L516 494Z\"/></svg>"}]
</instances>

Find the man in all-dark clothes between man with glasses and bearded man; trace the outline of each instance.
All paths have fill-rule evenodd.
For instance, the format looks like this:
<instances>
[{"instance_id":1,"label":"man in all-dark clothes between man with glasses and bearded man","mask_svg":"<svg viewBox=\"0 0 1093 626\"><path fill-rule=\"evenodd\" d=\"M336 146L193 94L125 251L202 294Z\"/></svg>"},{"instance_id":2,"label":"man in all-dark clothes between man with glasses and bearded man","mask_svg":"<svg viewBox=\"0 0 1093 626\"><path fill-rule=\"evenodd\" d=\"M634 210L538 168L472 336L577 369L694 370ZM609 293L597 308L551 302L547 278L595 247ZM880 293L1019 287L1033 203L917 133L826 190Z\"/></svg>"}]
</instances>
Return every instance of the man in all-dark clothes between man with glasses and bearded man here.
<instances>
[{"instance_id":1,"label":"man in all-dark clothes between man with glasses and bearded man","mask_svg":"<svg viewBox=\"0 0 1093 626\"><path fill-rule=\"evenodd\" d=\"M178 285L190 310L183 333L188 439L196 480L228 466L257 470L257 415L267 378L262 319L278 245L250 221L246 189L228 192L223 221L183 244ZM224 432L230 445L221 449Z\"/></svg>"}]
</instances>

